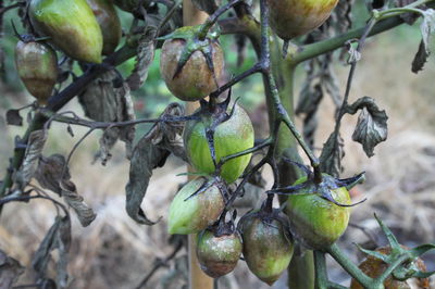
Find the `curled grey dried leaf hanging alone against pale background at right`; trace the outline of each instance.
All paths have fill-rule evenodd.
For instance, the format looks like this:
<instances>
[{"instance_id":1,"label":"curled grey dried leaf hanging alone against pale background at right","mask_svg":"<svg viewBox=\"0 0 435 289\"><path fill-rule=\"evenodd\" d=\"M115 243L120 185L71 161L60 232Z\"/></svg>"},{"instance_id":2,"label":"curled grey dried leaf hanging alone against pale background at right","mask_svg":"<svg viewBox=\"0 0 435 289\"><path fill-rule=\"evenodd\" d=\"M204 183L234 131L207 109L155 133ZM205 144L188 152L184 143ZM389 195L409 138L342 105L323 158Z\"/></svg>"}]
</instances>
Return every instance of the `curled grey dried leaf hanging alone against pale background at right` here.
<instances>
[{"instance_id":1,"label":"curled grey dried leaf hanging alone against pale background at right","mask_svg":"<svg viewBox=\"0 0 435 289\"><path fill-rule=\"evenodd\" d=\"M358 117L358 124L353 131L352 139L362 144L365 154L373 156L374 148L382 141L387 139L387 120L385 111L381 111L374 103L374 100L364 97L357 100L349 106L348 112L355 114L361 110Z\"/></svg>"}]
</instances>

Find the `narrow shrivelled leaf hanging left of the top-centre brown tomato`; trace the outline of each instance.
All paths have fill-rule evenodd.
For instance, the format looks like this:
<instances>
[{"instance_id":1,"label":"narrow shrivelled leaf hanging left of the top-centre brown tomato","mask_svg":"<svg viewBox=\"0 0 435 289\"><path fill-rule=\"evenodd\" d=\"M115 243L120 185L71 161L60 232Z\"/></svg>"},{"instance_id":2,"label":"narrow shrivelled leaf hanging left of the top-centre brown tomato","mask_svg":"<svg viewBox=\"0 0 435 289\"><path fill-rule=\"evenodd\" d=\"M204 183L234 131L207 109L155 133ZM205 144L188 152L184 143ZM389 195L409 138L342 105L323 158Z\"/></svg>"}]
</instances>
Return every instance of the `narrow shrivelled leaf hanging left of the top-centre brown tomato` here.
<instances>
[{"instance_id":1,"label":"narrow shrivelled leaf hanging left of the top-centre brown tomato","mask_svg":"<svg viewBox=\"0 0 435 289\"><path fill-rule=\"evenodd\" d=\"M148 77L148 68L154 60L156 27L147 26L137 47L136 65L127 83L132 90L139 89Z\"/></svg>"}]
</instances>

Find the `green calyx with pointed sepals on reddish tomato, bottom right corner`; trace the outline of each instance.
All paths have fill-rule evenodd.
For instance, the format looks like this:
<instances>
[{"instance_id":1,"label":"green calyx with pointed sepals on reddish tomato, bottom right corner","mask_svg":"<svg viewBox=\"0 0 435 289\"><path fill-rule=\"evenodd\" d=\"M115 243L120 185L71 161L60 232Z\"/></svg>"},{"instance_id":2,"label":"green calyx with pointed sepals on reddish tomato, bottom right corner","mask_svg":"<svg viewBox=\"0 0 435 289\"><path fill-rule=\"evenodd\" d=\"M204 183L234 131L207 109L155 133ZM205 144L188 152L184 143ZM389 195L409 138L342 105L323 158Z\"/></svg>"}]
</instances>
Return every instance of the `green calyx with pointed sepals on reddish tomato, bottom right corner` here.
<instances>
[{"instance_id":1,"label":"green calyx with pointed sepals on reddish tomato, bottom right corner","mask_svg":"<svg viewBox=\"0 0 435 289\"><path fill-rule=\"evenodd\" d=\"M366 254L369 257L381 260L388 265L393 265L398 260L402 260L402 262L393 271L393 277L400 281L405 281L409 278L428 278L435 273L435 271L425 272L421 268L421 265L419 266L419 257L427 251L434 250L435 244L421 244L413 249L401 246L391 230L381 221L381 218L378 218L376 214L374 217L388 240L388 247L373 251L363 249L359 244L356 244L361 252Z\"/></svg>"}]
</instances>

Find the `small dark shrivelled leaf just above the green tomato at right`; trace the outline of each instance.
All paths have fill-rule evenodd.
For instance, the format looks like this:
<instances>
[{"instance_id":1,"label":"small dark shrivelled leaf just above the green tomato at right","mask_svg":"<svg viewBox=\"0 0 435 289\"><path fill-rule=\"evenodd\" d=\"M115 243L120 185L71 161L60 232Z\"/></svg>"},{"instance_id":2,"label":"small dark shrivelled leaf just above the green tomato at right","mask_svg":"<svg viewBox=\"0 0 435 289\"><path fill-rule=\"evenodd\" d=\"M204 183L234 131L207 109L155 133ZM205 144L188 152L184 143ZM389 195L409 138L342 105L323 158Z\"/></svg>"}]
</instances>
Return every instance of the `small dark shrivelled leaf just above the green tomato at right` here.
<instances>
[{"instance_id":1,"label":"small dark shrivelled leaf just above the green tomato at right","mask_svg":"<svg viewBox=\"0 0 435 289\"><path fill-rule=\"evenodd\" d=\"M340 175L343 172L341 160L345 156L344 146L344 140L339 134L331 134L320 155L322 172L334 177Z\"/></svg>"}]
</instances>

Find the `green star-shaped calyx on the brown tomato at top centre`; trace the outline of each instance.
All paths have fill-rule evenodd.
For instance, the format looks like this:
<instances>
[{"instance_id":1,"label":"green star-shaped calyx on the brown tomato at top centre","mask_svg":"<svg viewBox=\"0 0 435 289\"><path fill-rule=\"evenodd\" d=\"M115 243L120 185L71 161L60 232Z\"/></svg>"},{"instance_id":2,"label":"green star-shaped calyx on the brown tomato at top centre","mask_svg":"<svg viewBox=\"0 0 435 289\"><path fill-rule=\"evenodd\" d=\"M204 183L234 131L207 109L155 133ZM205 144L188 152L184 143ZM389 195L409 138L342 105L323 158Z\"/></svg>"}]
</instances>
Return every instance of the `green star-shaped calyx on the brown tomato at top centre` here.
<instances>
[{"instance_id":1,"label":"green star-shaped calyx on the brown tomato at top centre","mask_svg":"<svg viewBox=\"0 0 435 289\"><path fill-rule=\"evenodd\" d=\"M184 46L182 55L179 58L179 61L177 63L177 67L175 70L174 75L172 78L174 79L177 77L182 71L187 61L190 59L191 54L194 54L196 51L200 51L202 55L206 59L207 66L209 70L212 72L214 81L217 86L217 79L215 78L215 73L214 73L214 64L213 64L213 43L217 42L219 38L219 32L209 32L203 39L201 39L201 34L202 34L202 25L197 25L197 26L185 26L182 28L176 29L172 34L169 34L163 37L157 38L157 40L167 40L167 39L181 39L186 42Z\"/></svg>"}]
</instances>

